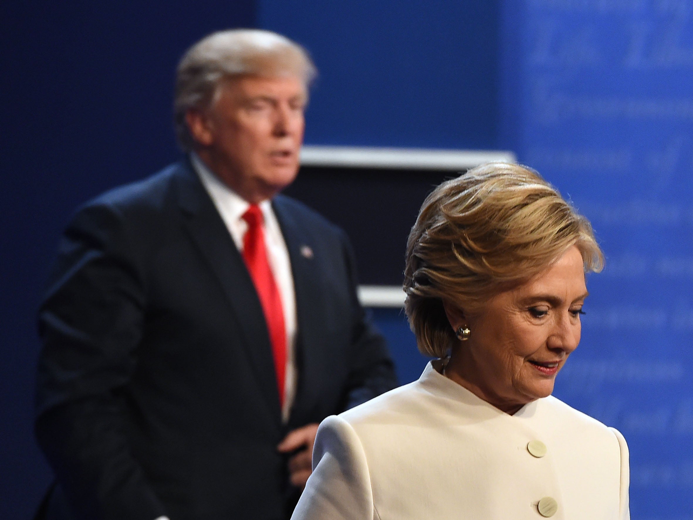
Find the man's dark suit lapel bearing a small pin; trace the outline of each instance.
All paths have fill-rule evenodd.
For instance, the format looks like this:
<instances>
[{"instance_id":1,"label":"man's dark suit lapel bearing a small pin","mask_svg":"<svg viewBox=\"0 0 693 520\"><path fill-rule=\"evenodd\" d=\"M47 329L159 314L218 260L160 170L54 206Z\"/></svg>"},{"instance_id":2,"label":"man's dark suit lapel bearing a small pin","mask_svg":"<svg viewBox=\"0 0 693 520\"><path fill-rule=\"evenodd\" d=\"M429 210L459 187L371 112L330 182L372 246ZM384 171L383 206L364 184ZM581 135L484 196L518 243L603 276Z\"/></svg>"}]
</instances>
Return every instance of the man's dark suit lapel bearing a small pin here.
<instances>
[{"instance_id":1,"label":"man's dark suit lapel bearing a small pin","mask_svg":"<svg viewBox=\"0 0 693 520\"><path fill-rule=\"evenodd\" d=\"M327 352L324 348L322 324L323 288L315 257L317 248L306 229L301 227L292 215L290 208L278 196L272 203L277 215L284 241L289 251L291 270L296 293L298 320L297 363L299 367L299 386L291 417L299 422L301 417L310 415L311 408L317 406L323 378L328 366ZM293 421L292 421L293 422Z\"/></svg>"}]
</instances>

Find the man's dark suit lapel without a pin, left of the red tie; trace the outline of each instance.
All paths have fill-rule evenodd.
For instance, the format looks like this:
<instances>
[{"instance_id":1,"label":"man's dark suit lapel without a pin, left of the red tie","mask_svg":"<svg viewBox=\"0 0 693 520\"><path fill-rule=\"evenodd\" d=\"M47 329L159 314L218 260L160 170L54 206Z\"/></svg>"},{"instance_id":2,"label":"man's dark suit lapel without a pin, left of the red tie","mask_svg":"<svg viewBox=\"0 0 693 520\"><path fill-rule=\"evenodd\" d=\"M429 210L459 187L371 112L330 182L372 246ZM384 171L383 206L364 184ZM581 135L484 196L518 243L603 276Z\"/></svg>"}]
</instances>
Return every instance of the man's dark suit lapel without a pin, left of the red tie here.
<instances>
[{"instance_id":1,"label":"man's dark suit lapel without a pin, left of the red tie","mask_svg":"<svg viewBox=\"0 0 693 520\"><path fill-rule=\"evenodd\" d=\"M242 338L229 338L229 347L232 342L243 345L258 386L279 423L281 409L270 337L252 279L226 225L189 164L182 168L179 178L179 203L186 217L184 225L218 279L243 335Z\"/></svg>"}]
</instances>

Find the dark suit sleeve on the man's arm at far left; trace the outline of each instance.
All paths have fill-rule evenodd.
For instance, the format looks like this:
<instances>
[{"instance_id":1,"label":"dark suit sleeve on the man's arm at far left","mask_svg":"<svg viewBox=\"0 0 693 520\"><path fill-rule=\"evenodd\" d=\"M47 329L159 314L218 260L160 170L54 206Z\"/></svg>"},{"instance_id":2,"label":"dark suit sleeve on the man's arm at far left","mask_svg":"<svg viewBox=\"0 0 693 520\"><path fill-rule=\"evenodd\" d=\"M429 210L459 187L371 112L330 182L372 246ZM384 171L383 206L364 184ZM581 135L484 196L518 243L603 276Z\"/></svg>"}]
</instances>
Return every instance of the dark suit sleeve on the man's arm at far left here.
<instances>
[{"instance_id":1,"label":"dark suit sleeve on the man's arm at far left","mask_svg":"<svg viewBox=\"0 0 693 520\"><path fill-rule=\"evenodd\" d=\"M137 367L145 305L127 235L112 205L78 211L39 312L35 431L79 519L166 514L132 456L121 408Z\"/></svg>"}]
</instances>

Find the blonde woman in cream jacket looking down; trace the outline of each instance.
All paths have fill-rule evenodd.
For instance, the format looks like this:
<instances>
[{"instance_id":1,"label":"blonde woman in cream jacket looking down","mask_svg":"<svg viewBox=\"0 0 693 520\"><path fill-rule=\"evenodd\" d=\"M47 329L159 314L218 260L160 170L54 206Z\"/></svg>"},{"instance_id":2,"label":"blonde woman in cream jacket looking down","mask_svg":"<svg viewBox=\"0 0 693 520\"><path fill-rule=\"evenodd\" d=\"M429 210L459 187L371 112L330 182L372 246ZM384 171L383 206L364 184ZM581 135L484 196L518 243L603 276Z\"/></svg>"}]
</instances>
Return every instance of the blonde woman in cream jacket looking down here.
<instances>
[{"instance_id":1,"label":"blonde woman in cream jacket looking down","mask_svg":"<svg viewBox=\"0 0 693 520\"><path fill-rule=\"evenodd\" d=\"M485 164L407 244L414 383L322 422L295 520L629 518L622 435L551 396L580 340L590 224L536 172Z\"/></svg>"}]
</instances>

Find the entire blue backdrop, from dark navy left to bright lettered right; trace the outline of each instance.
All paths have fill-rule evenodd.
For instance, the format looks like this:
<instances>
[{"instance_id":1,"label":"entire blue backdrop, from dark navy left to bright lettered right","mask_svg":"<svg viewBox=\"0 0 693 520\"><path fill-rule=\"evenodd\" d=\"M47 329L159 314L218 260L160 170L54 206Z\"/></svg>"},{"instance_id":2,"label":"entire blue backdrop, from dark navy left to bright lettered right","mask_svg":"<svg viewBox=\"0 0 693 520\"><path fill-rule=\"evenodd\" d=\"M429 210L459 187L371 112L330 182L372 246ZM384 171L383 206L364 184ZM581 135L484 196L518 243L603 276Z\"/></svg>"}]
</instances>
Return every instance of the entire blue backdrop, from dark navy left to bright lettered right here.
<instances>
[{"instance_id":1,"label":"entire blue backdrop, from dark navy left to bright lettered right","mask_svg":"<svg viewBox=\"0 0 693 520\"><path fill-rule=\"evenodd\" d=\"M310 144L509 148L593 222L581 347L556 394L624 433L633 519L693 519L693 0L4 2L0 518L50 479L31 433L35 307L79 202L177 158L173 69L260 26L320 69ZM404 245L403 245L404 246ZM376 311L403 381L424 360Z\"/></svg>"}]
</instances>

